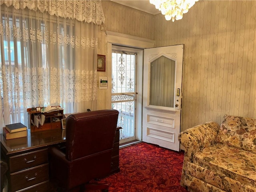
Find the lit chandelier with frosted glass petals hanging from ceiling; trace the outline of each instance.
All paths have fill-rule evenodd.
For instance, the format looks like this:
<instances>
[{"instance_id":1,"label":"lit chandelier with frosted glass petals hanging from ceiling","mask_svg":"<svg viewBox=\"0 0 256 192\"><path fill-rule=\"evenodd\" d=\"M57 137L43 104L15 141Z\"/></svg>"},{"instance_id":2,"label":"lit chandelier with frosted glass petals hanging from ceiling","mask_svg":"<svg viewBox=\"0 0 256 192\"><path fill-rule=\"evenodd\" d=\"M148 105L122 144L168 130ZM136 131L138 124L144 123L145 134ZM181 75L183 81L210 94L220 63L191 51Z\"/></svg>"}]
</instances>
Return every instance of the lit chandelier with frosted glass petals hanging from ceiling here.
<instances>
[{"instance_id":1,"label":"lit chandelier with frosted glass petals hanging from ceiling","mask_svg":"<svg viewBox=\"0 0 256 192\"><path fill-rule=\"evenodd\" d=\"M149 0L160 10L166 20L180 20L198 0Z\"/></svg>"}]
</instances>

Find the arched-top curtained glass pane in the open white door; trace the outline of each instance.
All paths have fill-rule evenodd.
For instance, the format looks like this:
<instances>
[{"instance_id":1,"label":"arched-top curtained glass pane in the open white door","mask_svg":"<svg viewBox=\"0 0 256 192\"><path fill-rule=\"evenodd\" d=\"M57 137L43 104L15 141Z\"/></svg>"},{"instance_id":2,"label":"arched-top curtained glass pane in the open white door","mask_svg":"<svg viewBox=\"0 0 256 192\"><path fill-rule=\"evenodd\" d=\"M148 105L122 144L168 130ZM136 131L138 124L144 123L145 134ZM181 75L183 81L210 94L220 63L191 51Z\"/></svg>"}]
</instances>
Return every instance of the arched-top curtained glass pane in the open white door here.
<instances>
[{"instance_id":1,"label":"arched-top curtained glass pane in the open white door","mask_svg":"<svg viewBox=\"0 0 256 192\"><path fill-rule=\"evenodd\" d=\"M164 56L150 63L150 99L155 106L174 107L175 61Z\"/></svg>"}]
</instances>

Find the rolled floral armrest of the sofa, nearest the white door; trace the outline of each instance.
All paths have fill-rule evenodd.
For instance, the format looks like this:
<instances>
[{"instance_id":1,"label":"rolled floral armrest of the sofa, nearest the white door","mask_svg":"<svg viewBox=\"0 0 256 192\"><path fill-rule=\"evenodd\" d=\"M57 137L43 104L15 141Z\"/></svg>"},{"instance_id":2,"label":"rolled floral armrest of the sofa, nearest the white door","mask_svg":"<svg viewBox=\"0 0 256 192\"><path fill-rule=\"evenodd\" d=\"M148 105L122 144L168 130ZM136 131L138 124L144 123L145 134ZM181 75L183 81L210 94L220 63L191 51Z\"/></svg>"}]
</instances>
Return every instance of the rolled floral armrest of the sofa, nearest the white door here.
<instances>
[{"instance_id":1,"label":"rolled floral armrest of the sofa, nearest the white door","mask_svg":"<svg viewBox=\"0 0 256 192\"><path fill-rule=\"evenodd\" d=\"M182 176L180 184L185 186L185 174L187 162L193 161L194 154L214 143L220 125L216 122L206 122L180 132L178 140L185 147Z\"/></svg>"}]
</instances>

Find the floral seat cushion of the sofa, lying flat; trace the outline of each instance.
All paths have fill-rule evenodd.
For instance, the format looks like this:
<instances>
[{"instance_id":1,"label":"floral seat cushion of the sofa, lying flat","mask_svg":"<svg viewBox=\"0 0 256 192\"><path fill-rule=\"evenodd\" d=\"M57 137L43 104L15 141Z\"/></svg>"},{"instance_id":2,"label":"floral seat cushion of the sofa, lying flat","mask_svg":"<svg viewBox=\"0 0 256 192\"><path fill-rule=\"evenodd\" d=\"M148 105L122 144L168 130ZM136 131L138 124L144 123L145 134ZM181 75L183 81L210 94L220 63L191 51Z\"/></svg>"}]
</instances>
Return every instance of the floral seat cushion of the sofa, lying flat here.
<instances>
[{"instance_id":1,"label":"floral seat cushion of the sofa, lying flat","mask_svg":"<svg viewBox=\"0 0 256 192\"><path fill-rule=\"evenodd\" d=\"M256 154L214 144L194 154L193 163L256 188Z\"/></svg>"}]
</instances>

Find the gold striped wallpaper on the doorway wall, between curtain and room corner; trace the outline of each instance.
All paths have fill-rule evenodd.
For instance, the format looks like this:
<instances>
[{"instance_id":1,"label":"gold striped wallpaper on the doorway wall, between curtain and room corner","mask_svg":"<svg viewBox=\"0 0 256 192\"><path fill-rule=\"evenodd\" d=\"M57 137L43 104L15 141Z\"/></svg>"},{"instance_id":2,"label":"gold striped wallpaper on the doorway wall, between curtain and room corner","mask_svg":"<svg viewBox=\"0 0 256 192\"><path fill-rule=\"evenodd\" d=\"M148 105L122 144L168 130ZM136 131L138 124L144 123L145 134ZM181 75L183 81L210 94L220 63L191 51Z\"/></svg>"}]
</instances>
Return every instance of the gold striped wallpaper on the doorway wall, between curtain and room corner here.
<instances>
[{"instance_id":1,"label":"gold striped wallpaper on the doorway wall, between curtain and room corner","mask_svg":"<svg viewBox=\"0 0 256 192\"><path fill-rule=\"evenodd\" d=\"M105 24L101 26L98 39L98 54L107 55L106 31L136 36L140 38L153 39L154 16L152 14L118 4L109 0L102 0L102 8L105 16ZM122 44L122 42L120 42ZM108 58L106 58L108 59ZM110 67L106 65L106 70ZM98 76L107 76L106 72L98 72ZM111 77L108 77L111 79ZM111 96L107 90L98 89L98 109L108 108L107 99Z\"/></svg>"}]
</instances>

